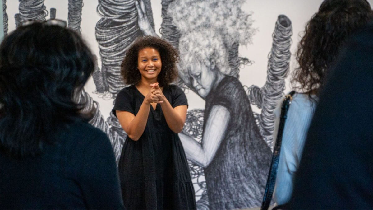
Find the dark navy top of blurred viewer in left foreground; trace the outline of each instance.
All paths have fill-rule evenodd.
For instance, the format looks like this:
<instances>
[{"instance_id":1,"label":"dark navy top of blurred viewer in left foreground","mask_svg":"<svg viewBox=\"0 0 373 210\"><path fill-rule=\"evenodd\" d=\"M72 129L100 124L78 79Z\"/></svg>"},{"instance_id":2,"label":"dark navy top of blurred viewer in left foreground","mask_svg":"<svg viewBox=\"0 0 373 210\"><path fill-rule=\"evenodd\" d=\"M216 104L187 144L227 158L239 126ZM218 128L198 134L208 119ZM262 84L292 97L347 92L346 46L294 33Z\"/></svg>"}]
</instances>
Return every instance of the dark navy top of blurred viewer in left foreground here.
<instances>
[{"instance_id":1,"label":"dark navy top of blurred viewer in left foreground","mask_svg":"<svg viewBox=\"0 0 373 210\"><path fill-rule=\"evenodd\" d=\"M107 136L77 121L35 158L1 153L1 209L123 209Z\"/></svg>"}]
</instances>

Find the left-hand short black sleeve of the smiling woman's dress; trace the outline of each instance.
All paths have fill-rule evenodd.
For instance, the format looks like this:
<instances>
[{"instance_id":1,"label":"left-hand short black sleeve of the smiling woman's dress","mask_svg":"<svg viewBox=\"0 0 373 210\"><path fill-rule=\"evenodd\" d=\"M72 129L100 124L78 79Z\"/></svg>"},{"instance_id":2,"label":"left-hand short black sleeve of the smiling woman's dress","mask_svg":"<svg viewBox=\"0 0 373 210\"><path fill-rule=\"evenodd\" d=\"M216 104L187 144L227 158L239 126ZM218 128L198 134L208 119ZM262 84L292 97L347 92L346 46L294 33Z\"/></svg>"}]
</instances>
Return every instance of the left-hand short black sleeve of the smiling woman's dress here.
<instances>
[{"instance_id":1,"label":"left-hand short black sleeve of the smiling woman's dress","mask_svg":"<svg viewBox=\"0 0 373 210\"><path fill-rule=\"evenodd\" d=\"M131 91L131 87L125 87L119 91L115 103L114 108L112 109L113 114L116 117L116 110L119 111L127 111L135 114L135 105L134 105L134 94Z\"/></svg>"}]
</instances>

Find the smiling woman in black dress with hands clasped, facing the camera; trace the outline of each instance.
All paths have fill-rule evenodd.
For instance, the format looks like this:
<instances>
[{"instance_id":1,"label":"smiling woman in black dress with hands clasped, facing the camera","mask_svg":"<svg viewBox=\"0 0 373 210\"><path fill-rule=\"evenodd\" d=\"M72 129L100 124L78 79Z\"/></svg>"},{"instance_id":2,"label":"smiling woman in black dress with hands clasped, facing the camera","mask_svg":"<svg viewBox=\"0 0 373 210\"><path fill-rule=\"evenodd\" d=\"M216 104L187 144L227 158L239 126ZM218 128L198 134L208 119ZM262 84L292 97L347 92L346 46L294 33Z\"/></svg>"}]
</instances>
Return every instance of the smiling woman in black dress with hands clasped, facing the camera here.
<instances>
[{"instance_id":1,"label":"smiling woman in black dress with hands clasped, facing the camera","mask_svg":"<svg viewBox=\"0 0 373 210\"><path fill-rule=\"evenodd\" d=\"M178 53L166 41L146 36L127 50L121 73L127 84L113 114L128 137L119 161L128 209L196 209L194 188L177 133L186 119L184 92L170 85Z\"/></svg>"}]
</instances>

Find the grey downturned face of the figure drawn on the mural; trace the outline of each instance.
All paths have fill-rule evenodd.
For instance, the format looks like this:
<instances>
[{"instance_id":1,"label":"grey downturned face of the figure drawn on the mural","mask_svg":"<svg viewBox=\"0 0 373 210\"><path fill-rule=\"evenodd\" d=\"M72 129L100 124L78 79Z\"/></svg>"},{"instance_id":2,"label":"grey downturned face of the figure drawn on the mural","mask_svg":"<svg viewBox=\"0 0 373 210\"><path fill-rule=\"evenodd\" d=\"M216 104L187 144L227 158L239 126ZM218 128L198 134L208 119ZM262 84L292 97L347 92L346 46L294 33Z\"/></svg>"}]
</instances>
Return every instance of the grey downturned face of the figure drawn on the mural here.
<instances>
[{"instance_id":1,"label":"grey downturned face of the figure drawn on the mural","mask_svg":"<svg viewBox=\"0 0 373 210\"><path fill-rule=\"evenodd\" d=\"M195 62L191 64L189 69L189 76L191 78L191 85L194 87L196 93L202 98L210 93L214 86L216 72L213 71L214 63L211 62L210 66Z\"/></svg>"}]
</instances>

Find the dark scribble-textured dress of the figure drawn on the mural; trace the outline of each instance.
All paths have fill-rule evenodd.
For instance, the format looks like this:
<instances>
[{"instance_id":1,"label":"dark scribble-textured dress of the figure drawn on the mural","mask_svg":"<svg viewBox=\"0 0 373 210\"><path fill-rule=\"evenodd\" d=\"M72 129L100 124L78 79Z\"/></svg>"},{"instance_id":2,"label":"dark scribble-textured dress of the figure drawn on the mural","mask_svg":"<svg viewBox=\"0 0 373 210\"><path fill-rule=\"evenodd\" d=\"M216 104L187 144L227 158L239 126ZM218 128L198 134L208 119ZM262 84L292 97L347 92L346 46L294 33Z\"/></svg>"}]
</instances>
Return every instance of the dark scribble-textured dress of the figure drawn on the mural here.
<instances>
[{"instance_id":1,"label":"dark scribble-textured dress of the figure drawn on the mural","mask_svg":"<svg viewBox=\"0 0 373 210\"><path fill-rule=\"evenodd\" d=\"M221 105L229 123L211 163L204 169L211 209L242 209L261 204L272 158L238 79L226 76L206 97L204 132L210 110Z\"/></svg>"}]
</instances>

